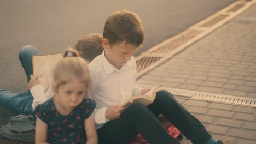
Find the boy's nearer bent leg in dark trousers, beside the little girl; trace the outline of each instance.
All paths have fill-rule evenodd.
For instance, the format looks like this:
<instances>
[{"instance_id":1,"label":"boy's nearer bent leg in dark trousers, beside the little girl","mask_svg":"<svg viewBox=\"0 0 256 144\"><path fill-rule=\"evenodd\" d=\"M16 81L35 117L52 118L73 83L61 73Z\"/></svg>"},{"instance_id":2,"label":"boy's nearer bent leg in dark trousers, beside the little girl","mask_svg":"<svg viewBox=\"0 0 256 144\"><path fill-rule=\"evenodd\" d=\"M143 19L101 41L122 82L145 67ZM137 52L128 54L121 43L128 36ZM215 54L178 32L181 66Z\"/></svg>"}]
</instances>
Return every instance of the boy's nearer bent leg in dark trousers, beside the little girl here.
<instances>
[{"instance_id":1,"label":"boy's nearer bent leg in dark trousers, beside the little girl","mask_svg":"<svg viewBox=\"0 0 256 144\"><path fill-rule=\"evenodd\" d=\"M162 127L154 113L146 106L133 104L118 119L109 121L97 129L98 143L129 142L138 133L150 144L179 143Z\"/></svg>"}]
</instances>

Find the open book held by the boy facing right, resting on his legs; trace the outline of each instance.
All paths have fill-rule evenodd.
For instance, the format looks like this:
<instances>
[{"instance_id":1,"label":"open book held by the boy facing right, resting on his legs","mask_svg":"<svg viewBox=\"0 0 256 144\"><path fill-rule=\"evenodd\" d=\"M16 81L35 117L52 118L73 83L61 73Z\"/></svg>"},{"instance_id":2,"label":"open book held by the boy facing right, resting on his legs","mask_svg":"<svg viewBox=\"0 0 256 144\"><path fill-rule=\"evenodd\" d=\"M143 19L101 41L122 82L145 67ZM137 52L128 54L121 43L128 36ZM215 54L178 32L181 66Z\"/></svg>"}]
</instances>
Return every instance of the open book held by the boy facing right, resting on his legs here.
<instances>
[{"instance_id":1,"label":"open book held by the boy facing right, resting on his legs","mask_svg":"<svg viewBox=\"0 0 256 144\"><path fill-rule=\"evenodd\" d=\"M150 91L148 91L147 93L145 93L143 95L132 96L131 98L127 99L123 104L121 104L120 107L129 105L129 104L135 104L135 103L140 103L140 104L147 106L147 105L153 103L153 101L155 99L156 91L161 86L162 86L162 84L159 83L158 85L156 85L155 87L150 89Z\"/></svg>"}]
</instances>

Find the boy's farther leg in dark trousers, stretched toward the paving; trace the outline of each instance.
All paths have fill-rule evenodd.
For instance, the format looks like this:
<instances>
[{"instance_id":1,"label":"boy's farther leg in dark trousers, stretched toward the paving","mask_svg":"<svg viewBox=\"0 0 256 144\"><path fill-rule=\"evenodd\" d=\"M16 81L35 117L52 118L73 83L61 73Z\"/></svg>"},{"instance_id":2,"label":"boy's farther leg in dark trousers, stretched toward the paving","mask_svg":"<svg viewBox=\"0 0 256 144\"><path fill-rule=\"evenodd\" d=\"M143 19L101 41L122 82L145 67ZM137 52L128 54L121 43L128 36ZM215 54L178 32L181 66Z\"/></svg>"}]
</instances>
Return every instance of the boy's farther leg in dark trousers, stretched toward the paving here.
<instances>
[{"instance_id":1,"label":"boy's farther leg in dark trousers, stretched toward the paving","mask_svg":"<svg viewBox=\"0 0 256 144\"><path fill-rule=\"evenodd\" d=\"M171 93L156 92L156 98L148 108L155 116L164 115L193 143L203 143L211 138L202 123L179 104Z\"/></svg>"}]
</instances>

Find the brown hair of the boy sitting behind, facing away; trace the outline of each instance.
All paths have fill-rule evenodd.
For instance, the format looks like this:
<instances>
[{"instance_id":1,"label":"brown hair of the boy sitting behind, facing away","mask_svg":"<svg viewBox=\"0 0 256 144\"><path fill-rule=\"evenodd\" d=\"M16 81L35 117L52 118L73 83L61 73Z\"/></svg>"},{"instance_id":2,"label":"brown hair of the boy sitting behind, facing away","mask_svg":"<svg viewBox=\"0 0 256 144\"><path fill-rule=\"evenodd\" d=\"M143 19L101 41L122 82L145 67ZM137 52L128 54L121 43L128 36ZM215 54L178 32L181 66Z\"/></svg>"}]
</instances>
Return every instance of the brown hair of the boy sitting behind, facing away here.
<instances>
[{"instance_id":1,"label":"brown hair of the boy sitting behind, facing away","mask_svg":"<svg viewBox=\"0 0 256 144\"><path fill-rule=\"evenodd\" d=\"M91 62L92 59L103 52L102 39L102 34L98 33L85 35L75 43L74 49L79 52L80 57Z\"/></svg>"}]
</instances>

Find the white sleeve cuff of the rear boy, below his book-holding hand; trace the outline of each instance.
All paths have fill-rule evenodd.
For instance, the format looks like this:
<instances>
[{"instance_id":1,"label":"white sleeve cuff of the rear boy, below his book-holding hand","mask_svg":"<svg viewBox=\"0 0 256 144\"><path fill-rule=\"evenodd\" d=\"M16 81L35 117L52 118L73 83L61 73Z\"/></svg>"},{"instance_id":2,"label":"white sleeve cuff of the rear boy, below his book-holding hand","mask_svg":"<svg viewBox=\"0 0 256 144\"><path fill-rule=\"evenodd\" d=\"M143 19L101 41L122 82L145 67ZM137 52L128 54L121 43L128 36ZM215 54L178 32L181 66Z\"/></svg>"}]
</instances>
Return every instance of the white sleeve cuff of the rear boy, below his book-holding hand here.
<instances>
[{"instance_id":1,"label":"white sleeve cuff of the rear boy, below his book-holding hand","mask_svg":"<svg viewBox=\"0 0 256 144\"><path fill-rule=\"evenodd\" d=\"M45 95L44 95L44 87L42 84L33 86L30 89L30 92L34 98L33 103L32 103L32 107L33 109L38 105L43 103L44 101L46 101L45 99Z\"/></svg>"}]
</instances>

